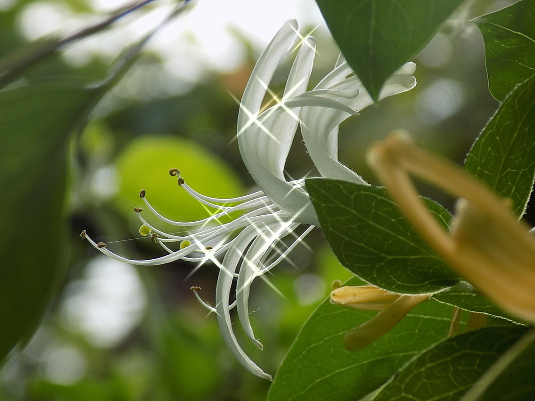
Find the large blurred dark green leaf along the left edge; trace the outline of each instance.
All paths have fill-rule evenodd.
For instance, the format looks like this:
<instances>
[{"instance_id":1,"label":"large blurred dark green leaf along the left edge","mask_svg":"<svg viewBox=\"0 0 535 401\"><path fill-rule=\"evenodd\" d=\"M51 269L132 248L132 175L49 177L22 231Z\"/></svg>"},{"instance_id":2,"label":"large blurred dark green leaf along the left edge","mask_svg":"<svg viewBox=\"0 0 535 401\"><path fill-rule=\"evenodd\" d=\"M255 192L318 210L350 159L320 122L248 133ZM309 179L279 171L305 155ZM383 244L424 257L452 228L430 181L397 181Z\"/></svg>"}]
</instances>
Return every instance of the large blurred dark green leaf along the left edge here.
<instances>
[{"instance_id":1,"label":"large blurred dark green leaf along the left edge","mask_svg":"<svg viewBox=\"0 0 535 401\"><path fill-rule=\"evenodd\" d=\"M0 92L0 360L31 334L64 271L69 134L96 92L61 82Z\"/></svg>"}]
</instances>

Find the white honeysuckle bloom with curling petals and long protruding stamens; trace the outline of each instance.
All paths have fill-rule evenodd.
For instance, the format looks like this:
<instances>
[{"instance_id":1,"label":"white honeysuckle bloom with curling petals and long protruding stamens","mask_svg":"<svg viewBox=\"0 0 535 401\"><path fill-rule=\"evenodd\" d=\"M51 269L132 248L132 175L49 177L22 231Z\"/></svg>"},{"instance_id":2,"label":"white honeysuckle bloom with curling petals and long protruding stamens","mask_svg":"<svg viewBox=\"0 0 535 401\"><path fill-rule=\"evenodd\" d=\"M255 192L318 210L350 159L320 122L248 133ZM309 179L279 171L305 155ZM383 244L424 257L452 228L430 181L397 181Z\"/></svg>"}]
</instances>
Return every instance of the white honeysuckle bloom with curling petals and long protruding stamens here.
<instances>
[{"instance_id":1,"label":"white honeysuckle bloom with curling petals and long protruding stamens","mask_svg":"<svg viewBox=\"0 0 535 401\"><path fill-rule=\"evenodd\" d=\"M216 312L221 333L238 361L259 377L271 376L259 368L242 350L234 334L230 310L236 307L241 326L258 348L249 321L248 299L251 283L277 266L299 244L312 228L318 225L314 207L304 188L304 179L288 181L284 166L297 126L301 125L305 145L320 174L364 183L362 178L337 160L338 125L350 115L372 103L361 90L360 81L349 76L352 71L341 58L332 72L318 86L307 91L316 53L313 37L299 35L297 21L285 22L273 40L259 57L251 78L244 90L238 114L238 144L243 163L260 190L242 197L223 199L206 196L189 187L178 169L170 174L178 177L178 184L203 204L218 210L209 218L180 222L163 217L148 202L146 192L140 198L159 219L186 230L184 235L165 233L150 225L141 208L134 211L142 222L141 234L151 235L167 255L150 260L132 260L113 253L105 244L95 243L82 232L95 248L112 258L135 265L160 265L182 259L197 262L212 261L220 271L216 287L215 307L198 296L198 287L192 287L195 296L210 311ZM299 42L295 45L296 38ZM270 95L276 104L260 112L268 92L269 83L281 59L292 49L299 49L289 72L282 97ZM414 64L387 82L383 97L406 91L416 84L410 75ZM320 117L322 116L322 117ZM240 217L227 223L219 219L234 211L243 211ZM308 225L296 236L294 230ZM290 234L296 238L286 249L280 248L280 240ZM173 243L179 243L178 249ZM270 257L273 256L273 259ZM278 253L278 255L277 255ZM218 257L224 255L223 261ZM237 279L236 300L230 302L233 280Z\"/></svg>"}]
</instances>

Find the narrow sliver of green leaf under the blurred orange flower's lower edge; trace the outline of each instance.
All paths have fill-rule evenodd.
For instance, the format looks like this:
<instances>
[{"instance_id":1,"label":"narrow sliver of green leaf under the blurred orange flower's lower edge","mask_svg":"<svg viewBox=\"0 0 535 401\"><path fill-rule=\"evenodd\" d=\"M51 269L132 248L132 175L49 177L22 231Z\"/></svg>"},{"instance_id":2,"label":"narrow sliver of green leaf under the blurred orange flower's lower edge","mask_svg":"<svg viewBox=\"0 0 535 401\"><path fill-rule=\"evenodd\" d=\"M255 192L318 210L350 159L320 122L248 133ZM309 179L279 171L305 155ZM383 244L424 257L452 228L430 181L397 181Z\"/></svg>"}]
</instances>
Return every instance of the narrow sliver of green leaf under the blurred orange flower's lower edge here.
<instances>
[{"instance_id":1,"label":"narrow sliver of green leaf under the blurred orange flower's lower edge","mask_svg":"<svg viewBox=\"0 0 535 401\"><path fill-rule=\"evenodd\" d=\"M496 318L507 319L516 323L523 322L502 311L490 300L478 294L467 282L461 282L452 288L440 291L433 295L433 299L448 305L453 305L470 312L480 312Z\"/></svg>"}]
</instances>

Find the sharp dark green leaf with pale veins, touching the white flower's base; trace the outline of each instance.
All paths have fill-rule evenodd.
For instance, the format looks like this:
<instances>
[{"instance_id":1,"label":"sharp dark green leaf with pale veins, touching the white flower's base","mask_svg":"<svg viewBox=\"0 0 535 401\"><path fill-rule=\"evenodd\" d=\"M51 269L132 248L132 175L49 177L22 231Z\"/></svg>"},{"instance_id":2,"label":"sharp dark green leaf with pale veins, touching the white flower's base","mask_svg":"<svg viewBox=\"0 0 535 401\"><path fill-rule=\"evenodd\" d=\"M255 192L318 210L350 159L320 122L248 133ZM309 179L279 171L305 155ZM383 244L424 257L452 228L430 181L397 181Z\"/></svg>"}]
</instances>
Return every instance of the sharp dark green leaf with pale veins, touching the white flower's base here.
<instances>
[{"instance_id":1,"label":"sharp dark green leaf with pale veins, touching the white flower's base","mask_svg":"<svg viewBox=\"0 0 535 401\"><path fill-rule=\"evenodd\" d=\"M307 180L307 190L335 255L366 282L421 294L458 281L387 197L386 188L315 179ZM426 203L447 227L451 216L444 207Z\"/></svg>"}]
</instances>

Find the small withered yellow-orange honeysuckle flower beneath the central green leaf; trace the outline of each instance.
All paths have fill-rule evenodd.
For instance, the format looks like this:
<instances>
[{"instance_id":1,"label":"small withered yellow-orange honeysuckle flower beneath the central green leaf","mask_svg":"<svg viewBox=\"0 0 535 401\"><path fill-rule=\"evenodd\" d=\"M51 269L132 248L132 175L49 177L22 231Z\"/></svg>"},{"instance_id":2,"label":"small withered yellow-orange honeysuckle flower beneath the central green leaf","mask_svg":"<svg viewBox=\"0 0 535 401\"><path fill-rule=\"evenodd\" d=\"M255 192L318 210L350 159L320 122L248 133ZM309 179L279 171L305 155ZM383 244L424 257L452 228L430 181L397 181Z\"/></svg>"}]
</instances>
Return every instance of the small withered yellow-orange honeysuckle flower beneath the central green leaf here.
<instances>
[{"instance_id":1,"label":"small withered yellow-orange honeysuckle flower beneath the central green leaf","mask_svg":"<svg viewBox=\"0 0 535 401\"><path fill-rule=\"evenodd\" d=\"M343 344L349 351L362 349L397 325L413 307L430 295L402 295L376 286L342 286L332 284L331 303L361 311L380 311L375 317L347 331Z\"/></svg>"}]
</instances>

